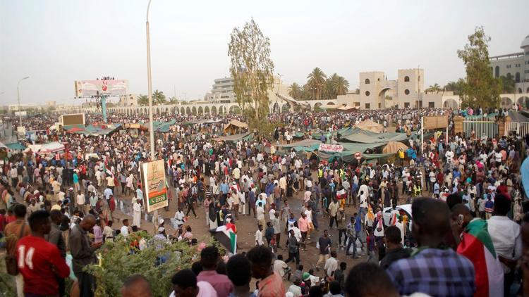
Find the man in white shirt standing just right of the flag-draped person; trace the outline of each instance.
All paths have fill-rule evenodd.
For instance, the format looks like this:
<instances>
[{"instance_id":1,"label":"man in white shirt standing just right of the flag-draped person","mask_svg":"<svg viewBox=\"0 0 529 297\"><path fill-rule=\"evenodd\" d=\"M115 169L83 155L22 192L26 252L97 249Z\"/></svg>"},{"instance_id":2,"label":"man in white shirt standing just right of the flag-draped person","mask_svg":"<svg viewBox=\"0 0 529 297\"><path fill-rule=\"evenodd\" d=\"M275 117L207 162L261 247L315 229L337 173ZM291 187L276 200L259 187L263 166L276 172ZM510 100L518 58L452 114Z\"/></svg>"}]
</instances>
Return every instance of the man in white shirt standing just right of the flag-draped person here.
<instances>
[{"instance_id":1,"label":"man in white shirt standing just right of the flag-draped person","mask_svg":"<svg viewBox=\"0 0 529 297\"><path fill-rule=\"evenodd\" d=\"M520 225L507 217L511 210L511 200L498 194L494 199L494 215L487 220L492 245L504 267L504 292L509 292L513 283L514 271L506 264L514 264L522 255Z\"/></svg>"}]
</instances>

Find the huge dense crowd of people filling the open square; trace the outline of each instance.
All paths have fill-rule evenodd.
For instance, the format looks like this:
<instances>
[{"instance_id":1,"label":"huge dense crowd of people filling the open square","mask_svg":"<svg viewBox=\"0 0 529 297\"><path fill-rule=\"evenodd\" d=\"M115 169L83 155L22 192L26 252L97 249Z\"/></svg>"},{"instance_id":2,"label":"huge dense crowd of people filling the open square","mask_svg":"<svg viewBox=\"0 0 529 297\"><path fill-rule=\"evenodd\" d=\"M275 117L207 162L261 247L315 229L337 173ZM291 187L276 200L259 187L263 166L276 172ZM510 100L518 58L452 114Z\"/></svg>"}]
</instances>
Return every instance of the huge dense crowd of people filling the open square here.
<instances>
[{"instance_id":1,"label":"huge dense crowd of people filling the open square","mask_svg":"<svg viewBox=\"0 0 529 297\"><path fill-rule=\"evenodd\" d=\"M506 115L487 110L494 111ZM155 133L154 158L164 160L169 188L159 217L147 215L140 179L140 163L151 158L148 132L85 136L51 129L56 115L30 117L23 124L35 133L21 144L59 141L65 148L5 153L6 268L18 296L64 296L70 270L79 296L94 296L95 276L83 267L97 263L106 241L147 230L197 244L207 230L230 225L248 229L250 243L239 242L238 253L226 257L215 246L202 248L191 269L174 272L171 296L522 296L529 217L519 170L528 143L516 134L456 133L454 115L483 113L274 113L271 134L244 130L229 141L224 124L244 121L241 115L157 115L159 122L176 120ZM448 116L448 129L422 131L425 115ZM334 131L367 119L406 134L408 148L346 162L283 146L303 139L336 144ZM99 115L87 121L102 125ZM19 124L13 120L13 131ZM131 275L121 294L152 296L150 286Z\"/></svg>"}]
</instances>

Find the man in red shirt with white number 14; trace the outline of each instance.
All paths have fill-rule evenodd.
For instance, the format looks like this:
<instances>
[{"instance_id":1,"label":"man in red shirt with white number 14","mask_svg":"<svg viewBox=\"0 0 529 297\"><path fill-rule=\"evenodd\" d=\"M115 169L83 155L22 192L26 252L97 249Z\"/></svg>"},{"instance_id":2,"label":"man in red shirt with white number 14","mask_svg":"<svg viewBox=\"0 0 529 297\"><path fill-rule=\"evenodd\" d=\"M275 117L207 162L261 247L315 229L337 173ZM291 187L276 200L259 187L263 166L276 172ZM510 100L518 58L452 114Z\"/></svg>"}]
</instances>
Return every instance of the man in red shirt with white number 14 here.
<instances>
[{"instance_id":1,"label":"man in red shirt with white number 14","mask_svg":"<svg viewBox=\"0 0 529 297\"><path fill-rule=\"evenodd\" d=\"M24 277L25 296L59 296L56 277L68 277L70 268L59 248L44 239L51 222L46 210L37 210L29 217L31 235L16 244L18 270Z\"/></svg>"}]
</instances>

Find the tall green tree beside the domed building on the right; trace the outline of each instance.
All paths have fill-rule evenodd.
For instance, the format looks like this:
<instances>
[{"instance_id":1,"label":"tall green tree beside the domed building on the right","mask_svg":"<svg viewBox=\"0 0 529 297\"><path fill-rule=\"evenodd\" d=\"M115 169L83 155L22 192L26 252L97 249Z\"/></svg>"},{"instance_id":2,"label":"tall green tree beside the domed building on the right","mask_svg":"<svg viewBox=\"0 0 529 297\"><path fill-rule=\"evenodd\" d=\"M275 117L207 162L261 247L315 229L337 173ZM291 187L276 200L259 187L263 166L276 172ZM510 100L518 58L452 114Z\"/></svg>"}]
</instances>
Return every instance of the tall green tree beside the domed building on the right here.
<instances>
[{"instance_id":1,"label":"tall green tree beside the domed building on the right","mask_svg":"<svg viewBox=\"0 0 529 297\"><path fill-rule=\"evenodd\" d=\"M499 107L501 80L492 77L489 66L490 37L483 27L477 27L474 34L468 36L468 44L458 50L459 58L466 66L466 82L461 90L461 107L496 108Z\"/></svg>"}]
</instances>

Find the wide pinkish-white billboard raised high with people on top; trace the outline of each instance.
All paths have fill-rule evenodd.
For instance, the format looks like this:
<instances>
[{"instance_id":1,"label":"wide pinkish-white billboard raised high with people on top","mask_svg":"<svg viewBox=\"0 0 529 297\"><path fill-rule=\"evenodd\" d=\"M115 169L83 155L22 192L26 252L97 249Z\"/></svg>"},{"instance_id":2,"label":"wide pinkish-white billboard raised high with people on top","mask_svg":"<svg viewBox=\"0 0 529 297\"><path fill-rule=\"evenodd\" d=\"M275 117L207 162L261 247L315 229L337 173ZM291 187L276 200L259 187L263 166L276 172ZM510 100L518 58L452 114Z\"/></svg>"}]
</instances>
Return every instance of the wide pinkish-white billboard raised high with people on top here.
<instances>
[{"instance_id":1,"label":"wide pinkish-white billboard raised high with people on top","mask_svg":"<svg viewBox=\"0 0 529 297\"><path fill-rule=\"evenodd\" d=\"M81 80L75 81L75 96L121 96L128 94L128 80Z\"/></svg>"}]
</instances>

